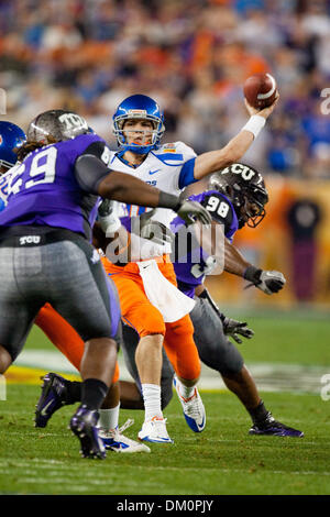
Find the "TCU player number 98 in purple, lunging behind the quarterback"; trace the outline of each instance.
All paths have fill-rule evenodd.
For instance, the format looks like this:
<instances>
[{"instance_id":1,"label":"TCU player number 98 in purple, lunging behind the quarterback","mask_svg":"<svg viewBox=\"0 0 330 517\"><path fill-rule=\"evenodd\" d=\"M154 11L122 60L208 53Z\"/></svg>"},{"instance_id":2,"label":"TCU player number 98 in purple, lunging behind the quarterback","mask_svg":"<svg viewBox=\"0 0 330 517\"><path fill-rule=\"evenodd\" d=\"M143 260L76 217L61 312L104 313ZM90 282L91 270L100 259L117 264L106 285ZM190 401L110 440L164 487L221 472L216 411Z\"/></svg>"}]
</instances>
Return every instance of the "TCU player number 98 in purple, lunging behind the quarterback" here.
<instances>
[{"instance_id":1,"label":"TCU player number 98 in purple, lunging behind the quarterback","mask_svg":"<svg viewBox=\"0 0 330 517\"><path fill-rule=\"evenodd\" d=\"M233 164L221 173L212 175L209 186L209 190L191 196L189 199L201 202L211 213L213 222L222 224L227 239L224 270L249 279L266 294L277 293L285 284L282 273L264 272L254 267L231 244L237 230L244 224L254 228L265 217L264 206L268 200L268 195L262 176L244 164ZM174 219L172 230L175 232L176 238L178 238L183 227L183 220L179 218ZM194 340L201 361L220 373L227 387L244 405L252 419L250 435L302 437L304 432L275 420L265 408L255 382L244 365L241 353L228 339L231 337L238 343L242 343L240 336L250 339L253 331L248 328L246 323L235 321L220 312L204 286L205 275L209 271L209 257L200 249L200 263L196 264L197 255L198 253L194 253L194 261L191 261L191 253L188 253L186 257L180 257L180 262L174 262L174 268L179 289L188 296L195 296L196 305L190 312L190 318L195 329ZM123 338L122 349L128 369L135 380L136 397L133 404L129 400L129 397L124 400L124 391L128 387L125 385L121 386L121 407L136 408L140 382L134 364L134 351L138 342L132 329L125 326L123 328ZM164 355L162 399L165 407L172 398L173 370L166 355ZM131 387L131 397L133 393Z\"/></svg>"}]
</instances>

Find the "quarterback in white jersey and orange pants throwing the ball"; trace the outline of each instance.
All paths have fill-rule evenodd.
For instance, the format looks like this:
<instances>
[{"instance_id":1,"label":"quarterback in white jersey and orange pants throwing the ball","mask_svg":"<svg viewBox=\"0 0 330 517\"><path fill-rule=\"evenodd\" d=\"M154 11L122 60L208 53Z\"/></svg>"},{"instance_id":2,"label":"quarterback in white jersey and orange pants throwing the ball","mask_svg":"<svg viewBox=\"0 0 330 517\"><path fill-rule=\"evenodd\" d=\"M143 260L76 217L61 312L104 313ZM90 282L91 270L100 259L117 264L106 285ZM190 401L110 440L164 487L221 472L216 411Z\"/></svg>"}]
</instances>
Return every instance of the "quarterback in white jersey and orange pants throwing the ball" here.
<instances>
[{"instance_id":1,"label":"quarterback in white jersey and orange pants throwing the ball","mask_svg":"<svg viewBox=\"0 0 330 517\"><path fill-rule=\"evenodd\" d=\"M262 111L246 105L251 117L238 135L224 147L196 156L183 142L161 145L164 119L158 105L147 96L131 96L120 103L113 116L120 150L111 152L109 166L130 177L157 185L165 191L179 194L185 186L240 160L264 127L277 100ZM136 205L129 204L128 216L140 213ZM157 210L152 219L168 227L173 213L170 210ZM182 302L183 297L179 298L172 289L170 299L175 297L175 301L164 302L164 293L167 294L169 288L162 289L160 285L167 286L168 283L164 280L168 280L176 286L175 272L168 260L170 246L155 246L152 243L146 251L142 258L150 262L148 271L147 264L139 264L140 257L120 264L110 261L103 264L119 288L123 319L138 330L141 338L136 363L145 404L145 420L139 438L166 443L172 440L161 407L163 344L176 369L178 395L186 421L195 432L205 428L206 415L197 389L200 362L194 342L194 327L188 317L191 300L185 298L185 304ZM151 280L152 274L158 275L158 282ZM147 290L151 289L154 294L153 302L143 287L147 280ZM163 302L160 298L163 298Z\"/></svg>"}]
</instances>

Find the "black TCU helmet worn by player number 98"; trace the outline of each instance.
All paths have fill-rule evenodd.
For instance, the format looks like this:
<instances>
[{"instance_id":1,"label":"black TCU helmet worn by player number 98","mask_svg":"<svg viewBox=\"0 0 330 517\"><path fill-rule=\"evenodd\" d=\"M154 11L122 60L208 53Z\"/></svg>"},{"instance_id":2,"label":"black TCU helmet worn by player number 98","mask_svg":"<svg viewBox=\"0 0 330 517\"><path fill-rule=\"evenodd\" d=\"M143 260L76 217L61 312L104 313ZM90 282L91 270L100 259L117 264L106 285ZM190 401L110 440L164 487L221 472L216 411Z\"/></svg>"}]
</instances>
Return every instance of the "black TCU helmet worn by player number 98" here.
<instances>
[{"instance_id":1,"label":"black TCU helmet worn by player number 98","mask_svg":"<svg viewBox=\"0 0 330 517\"><path fill-rule=\"evenodd\" d=\"M250 165L235 163L211 175L209 188L219 190L232 202L239 228L257 227L266 215L268 193L262 175Z\"/></svg>"}]
</instances>

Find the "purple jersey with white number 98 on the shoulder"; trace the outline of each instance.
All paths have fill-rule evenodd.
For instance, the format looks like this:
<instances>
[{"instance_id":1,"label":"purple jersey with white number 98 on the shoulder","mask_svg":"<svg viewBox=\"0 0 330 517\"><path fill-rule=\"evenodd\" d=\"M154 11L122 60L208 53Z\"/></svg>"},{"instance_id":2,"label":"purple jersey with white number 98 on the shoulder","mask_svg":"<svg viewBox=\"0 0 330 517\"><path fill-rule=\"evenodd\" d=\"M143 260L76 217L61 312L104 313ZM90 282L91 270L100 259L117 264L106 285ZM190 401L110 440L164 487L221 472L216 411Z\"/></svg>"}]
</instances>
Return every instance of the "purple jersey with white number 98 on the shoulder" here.
<instances>
[{"instance_id":1,"label":"purple jersey with white number 98 on the shoulder","mask_svg":"<svg viewBox=\"0 0 330 517\"><path fill-rule=\"evenodd\" d=\"M189 199L202 204L210 211L213 220L223 223L224 235L232 241L239 228L239 221L231 201L226 196L218 190L207 190L202 194L190 196ZM210 202L210 200L215 202ZM226 204L228 207L227 210L222 210L223 213L227 212L226 217L219 216L218 212L221 202ZM222 208L224 208L224 206ZM177 234L184 224L183 219L177 217L172 221L170 229ZM189 251L186 256L174 261L173 265L178 282L178 288L185 293L185 295L194 298L195 288L204 283L210 262L212 262L212 258L209 257L200 246L198 250Z\"/></svg>"}]
</instances>

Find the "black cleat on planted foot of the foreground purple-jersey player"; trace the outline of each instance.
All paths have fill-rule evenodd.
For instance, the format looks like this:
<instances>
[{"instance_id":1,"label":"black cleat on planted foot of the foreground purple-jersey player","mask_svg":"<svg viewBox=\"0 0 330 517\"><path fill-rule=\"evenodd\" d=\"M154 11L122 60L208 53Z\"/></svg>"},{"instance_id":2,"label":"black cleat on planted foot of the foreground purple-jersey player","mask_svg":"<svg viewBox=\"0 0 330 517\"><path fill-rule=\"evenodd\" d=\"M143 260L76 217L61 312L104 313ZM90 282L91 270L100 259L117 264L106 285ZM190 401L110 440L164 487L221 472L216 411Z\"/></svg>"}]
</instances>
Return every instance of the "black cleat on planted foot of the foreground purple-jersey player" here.
<instances>
[{"instance_id":1,"label":"black cleat on planted foot of the foreground purple-jersey player","mask_svg":"<svg viewBox=\"0 0 330 517\"><path fill-rule=\"evenodd\" d=\"M99 414L96 410L79 406L70 420L70 430L80 440L82 458L106 459L106 449L96 427Z\"/></svg>"}]
</instances>

